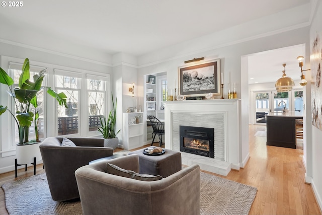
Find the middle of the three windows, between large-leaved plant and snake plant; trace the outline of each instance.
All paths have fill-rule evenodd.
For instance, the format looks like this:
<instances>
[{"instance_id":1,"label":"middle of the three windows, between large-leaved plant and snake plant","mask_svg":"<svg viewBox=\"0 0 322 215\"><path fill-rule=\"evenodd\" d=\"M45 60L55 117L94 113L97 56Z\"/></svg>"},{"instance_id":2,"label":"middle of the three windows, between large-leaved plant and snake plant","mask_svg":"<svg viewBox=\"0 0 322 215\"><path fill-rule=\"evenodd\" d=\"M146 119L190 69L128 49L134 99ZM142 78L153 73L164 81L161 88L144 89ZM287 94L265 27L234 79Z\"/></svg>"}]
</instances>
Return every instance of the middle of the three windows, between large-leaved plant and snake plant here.
<instances>
[{"instance_id":1,"label":"middle of the three windows, between large-leaved plant and snake plant","mask_svg":"<svg viewBox=\"0 0 322 215\"><path fill-rule=\"evenodd\" d=\"M72 74L71 74L72 75ZM57 73L56 90L57 93L65 93L67 96L67 106L57 104L58 113L58 135L67 135L79 133L79 95L80 95L80 79L70 75L63 76Z\"/></svg>"}]
</instances>

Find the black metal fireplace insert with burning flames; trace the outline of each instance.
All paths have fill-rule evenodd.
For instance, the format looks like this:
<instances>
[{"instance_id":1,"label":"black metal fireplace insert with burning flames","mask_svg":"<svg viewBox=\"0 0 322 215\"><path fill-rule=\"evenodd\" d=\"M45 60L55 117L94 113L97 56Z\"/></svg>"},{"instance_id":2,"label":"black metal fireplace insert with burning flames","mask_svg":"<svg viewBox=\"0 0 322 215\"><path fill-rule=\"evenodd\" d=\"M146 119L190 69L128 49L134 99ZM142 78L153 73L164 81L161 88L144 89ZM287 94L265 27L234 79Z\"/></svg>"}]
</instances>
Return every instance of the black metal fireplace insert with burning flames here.
<instances>
[{"instance_id":1,"label":"black metal fireplace insert with burning flames","mask_svg":"<svg viewBox=\"0 0 322 215\"><path fill-rule=\"evenodd\" d=\"M180 151L214 158L214 129L180 125Z\"/></svg>"}]
</instances>

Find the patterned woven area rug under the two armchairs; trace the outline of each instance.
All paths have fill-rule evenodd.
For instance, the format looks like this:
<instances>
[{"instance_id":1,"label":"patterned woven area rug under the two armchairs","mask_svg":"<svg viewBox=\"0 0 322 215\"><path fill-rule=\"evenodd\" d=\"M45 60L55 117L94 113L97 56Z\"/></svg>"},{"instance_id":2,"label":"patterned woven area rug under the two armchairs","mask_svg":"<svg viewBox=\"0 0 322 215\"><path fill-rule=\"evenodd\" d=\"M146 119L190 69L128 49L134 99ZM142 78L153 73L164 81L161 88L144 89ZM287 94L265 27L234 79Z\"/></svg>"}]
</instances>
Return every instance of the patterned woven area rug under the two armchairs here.
<instances>
[{"instance_id":1,"label":"patterned woven area rug under the two armchairs","mask_svg":"<svg viewBox=\"0 0 322 215\"><path fill-rule=\"evenodd\" d=\"M257 189L200 172L202 215L248 214ZM11 215L81 215L81 202L52 200L45 173L2 185Z\"/></svg>"}]
</instances>

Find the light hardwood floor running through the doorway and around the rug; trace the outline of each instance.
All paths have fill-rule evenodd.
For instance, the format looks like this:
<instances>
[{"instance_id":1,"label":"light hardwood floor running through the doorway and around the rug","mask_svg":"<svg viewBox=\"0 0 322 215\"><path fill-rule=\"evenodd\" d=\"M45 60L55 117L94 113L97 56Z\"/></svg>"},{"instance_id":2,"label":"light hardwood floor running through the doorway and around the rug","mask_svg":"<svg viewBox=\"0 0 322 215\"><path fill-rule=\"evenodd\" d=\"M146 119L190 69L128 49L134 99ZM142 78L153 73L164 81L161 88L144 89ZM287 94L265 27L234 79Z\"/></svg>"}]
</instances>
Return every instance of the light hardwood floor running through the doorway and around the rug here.
<instances>
[{"instance_id":1,"label":"light hardwood floor running through the doorway and around the rug","mask_svg":"<svg viewBox=\"0 0 322 215\"><path fill-rule=\"evenodd\" d=\"M249 214L322 214L311 186L304 183L303 150L266 146L266 137L254 136L256 131L265 129L263 125L250 126L251 158L245 169L230 171L226 177L217 176L257 187ZM36 174L43 172L42 165L37 165ZM27 172L22 169L17 179L31 175L32 167ZM17 179L15 172L0 174L0 185ZM3 214L8 212L0 189L0 215Z\"/></svg>"}]
</instances>

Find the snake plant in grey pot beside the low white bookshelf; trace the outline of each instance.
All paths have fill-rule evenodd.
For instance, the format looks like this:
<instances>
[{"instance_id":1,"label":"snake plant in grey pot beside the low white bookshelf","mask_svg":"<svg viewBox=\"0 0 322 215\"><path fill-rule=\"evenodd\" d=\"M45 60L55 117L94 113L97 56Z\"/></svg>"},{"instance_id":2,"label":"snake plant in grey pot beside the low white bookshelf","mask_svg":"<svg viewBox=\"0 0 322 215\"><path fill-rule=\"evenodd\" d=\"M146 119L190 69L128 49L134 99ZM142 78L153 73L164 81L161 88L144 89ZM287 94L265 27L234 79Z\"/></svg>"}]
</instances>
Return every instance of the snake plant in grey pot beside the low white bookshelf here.
<instances>
[{"instance_id":1,"label":"snake plant in grey pot beside the low white bookshelf","mask_svg":"<svg viewBox=\"0 0 322 215\"><path fill-rule=\"evenodd\" d=\"M110 111L109 117L106 119L105 116L100 117L101 126L98 130L102 133L104 137L105 147L111 147L114 150L117 148L119 144L119 138L116 136L121 130L116 132L116 105L117 105L117 98L113 99L112 93L112 103L113 103L113 110Z\"/></svg>"}]
</instances>

